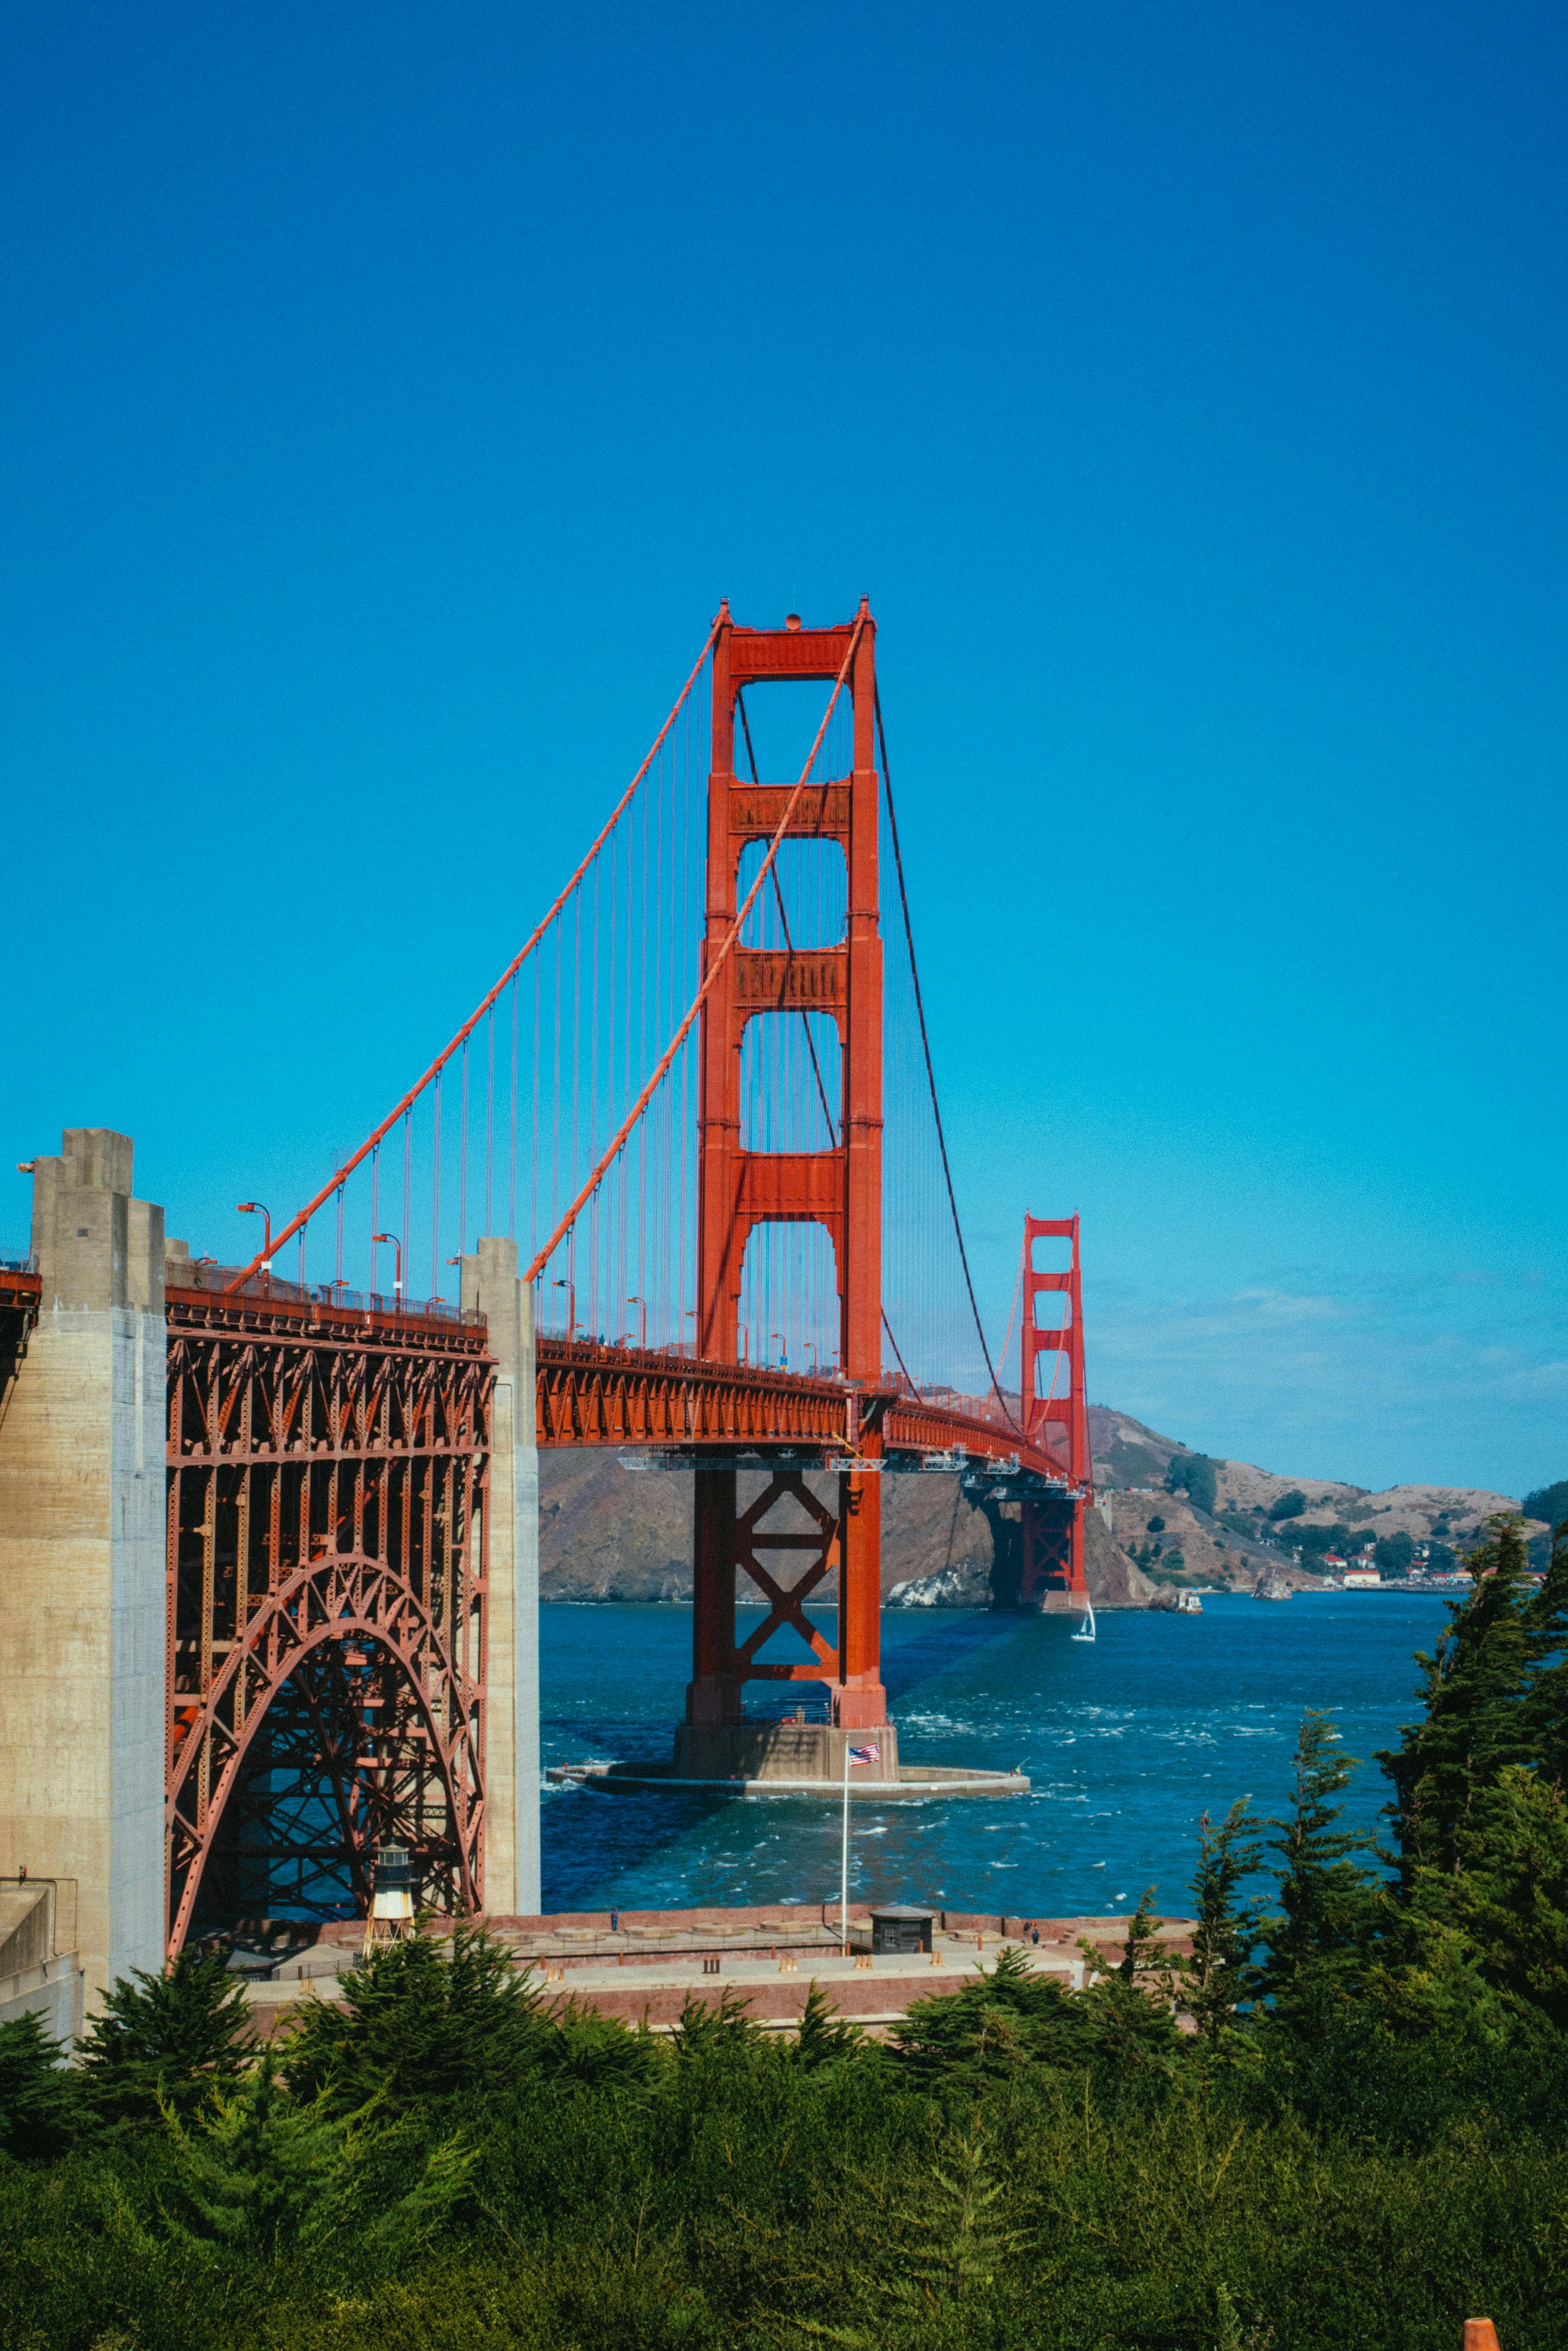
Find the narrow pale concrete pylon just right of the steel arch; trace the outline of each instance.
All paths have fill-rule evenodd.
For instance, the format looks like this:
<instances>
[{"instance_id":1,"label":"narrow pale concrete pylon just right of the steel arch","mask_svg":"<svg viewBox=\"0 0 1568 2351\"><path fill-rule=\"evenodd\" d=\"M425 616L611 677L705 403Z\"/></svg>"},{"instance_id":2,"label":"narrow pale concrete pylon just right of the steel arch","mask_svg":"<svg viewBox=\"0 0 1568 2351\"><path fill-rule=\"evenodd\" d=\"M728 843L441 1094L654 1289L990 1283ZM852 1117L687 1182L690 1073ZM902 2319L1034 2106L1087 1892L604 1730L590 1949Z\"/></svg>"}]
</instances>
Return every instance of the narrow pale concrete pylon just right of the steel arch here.
<instances>
[{"instance_id":1,"label":"narrow pale concrete pylon just right of the steel arch","mask_svg":"<svg viewBox=\"0 0 1568 2351\"><path fill-rule=\"evenodd\" d=\"M538 1886L538 1439L534 1420L534 1291L517 1244L475 1241L463 1258L465 1307L489 1326L496 1404L489 1451L489 1622L484 1714L484 1909L531 1916Z\"/></svg>"}]
</instances>

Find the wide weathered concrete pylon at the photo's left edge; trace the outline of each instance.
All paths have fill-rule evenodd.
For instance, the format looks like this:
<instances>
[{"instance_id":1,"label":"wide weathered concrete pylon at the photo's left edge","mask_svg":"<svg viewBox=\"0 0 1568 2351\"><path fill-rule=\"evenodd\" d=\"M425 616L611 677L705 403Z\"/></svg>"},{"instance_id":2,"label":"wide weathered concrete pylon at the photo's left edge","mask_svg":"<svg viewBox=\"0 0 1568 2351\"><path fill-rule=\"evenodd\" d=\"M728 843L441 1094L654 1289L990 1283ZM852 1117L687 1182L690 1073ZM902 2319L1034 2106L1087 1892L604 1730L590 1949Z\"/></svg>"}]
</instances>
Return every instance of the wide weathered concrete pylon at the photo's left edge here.
<instances>
[{"instance_id":1,"label":"wide weathered concrete pylon at the photo's left edge","mask_svg":"<svg viewBox=\"0 0 1568 2351\"><path fill-rule=\"evenodd\" d=\"M92 2012L165 1954L165 1237L129 1136L33 1161L33 1251L0 1415L0 1874L59 1883Z\"/></svg>"}]
</instances>

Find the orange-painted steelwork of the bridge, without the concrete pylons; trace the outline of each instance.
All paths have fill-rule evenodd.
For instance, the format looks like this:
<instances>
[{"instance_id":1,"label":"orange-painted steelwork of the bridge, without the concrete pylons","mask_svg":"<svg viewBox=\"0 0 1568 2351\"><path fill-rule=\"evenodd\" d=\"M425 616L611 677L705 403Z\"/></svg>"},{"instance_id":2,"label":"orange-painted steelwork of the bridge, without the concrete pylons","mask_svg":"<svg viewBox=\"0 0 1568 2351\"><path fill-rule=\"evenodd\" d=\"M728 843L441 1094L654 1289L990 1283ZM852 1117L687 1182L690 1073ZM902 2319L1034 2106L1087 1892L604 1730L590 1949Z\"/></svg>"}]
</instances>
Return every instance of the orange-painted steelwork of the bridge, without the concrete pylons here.
<instances>
[{"instance_id":1,"label":"orange-painted steelwork of the bridge, without the concrete pylons","mask_svg":"<svg viewBox=\"0 0 1568 2351\"><path fill-rule=\"evenodd\" d=\"M884 1472L959 1472L971 1491L985 1486L992 1498L1018 1500L1023 1601L1063 1606L1051 1594L1065 1594L1067 1606L1079 1606L1086 1599L1091 1460L1077 1218L1025 1220L1020 1420L1011 1418L994 1382L992 1399L922 1392L882 1361L875 639L865 602L851 621L818 630L797 621L778 630L738 628L722 607L654 752L522 955L362 1150L270 1237L275 1253L475 1032L588 872L703 661L712 658L708 889L696 997L529 1267L536 1277L571 1230L682 1039L701 1023L691 1352L576 1335L543 1335L536 1349L541 1446L623 1448L693 1472L691 1723L743 1721L743 1693L752 1681L825 1681L832 1721L846 1728L886 1719L879 1674ZM830 684L832 698L799 778L762 783L752 771L741 781L736 712L743 689L809 679ZM839 696L851 705L851 771L813 778ZM776 872L785 839L842 849L842 943L795 945ZM741 900L741 858L752 844L764 844L764 856ZM785 945L743 947L743 924L769 877ZM919 980L914 985L919 990ZM741 1140L748 1023L797 1013L837 1025L837 1103L827 1103L816 1049L811 1070L839 1140L820 1152L748 1150ZM952 1194L950 1176L947 1187ZM745 1248L750 1234L771 1223L816 1223L830 1237L839 1300L839 1371L832 1378L738 1361ZM1037 1237L1072 1239L1065 1274L1034 1274ZM35 1274L0 1267L0 1310L35 1317L38 1288ZM1048 1291L1067 1298L1063 1331L1037 1326L1037 1300ZM343 1900L364 1907L367 1857L383 1838L414 1850L425 1900L451 1911L477 1909L484 1893L484 1531L496 1380L484 1321L442 1300L414 1305L402 1295L357 1295L343 1284L289 1284L273 1277L270 1255L247 1267L193 1267L190 1286L169 1288L167 1317L169 1949L181 1947L197 1914L244 1911L247 1888L259 1895L266 1888L270 1902L282 1893L287 1904L303 1909L320 1907L322 1888L336 1888L339 1907ZM1048 1396L1037 1394L1037 1364L1048 1352L1067 1373L1060 1399L1056 1382ZM741 1507L738 1472L748 1467L762 1467L766 1483ZM809 1472L835 1476L832 1500L806 1483ZM738 1578L748 1578L766 1603L745 1639L736 1625ZM837 1599L837 1646L806 1615L806 1603L825 1594ZM806 1657L766 1655L771 1636L788 1629L806 1643Z\"/></svg>"}]
</instances>

